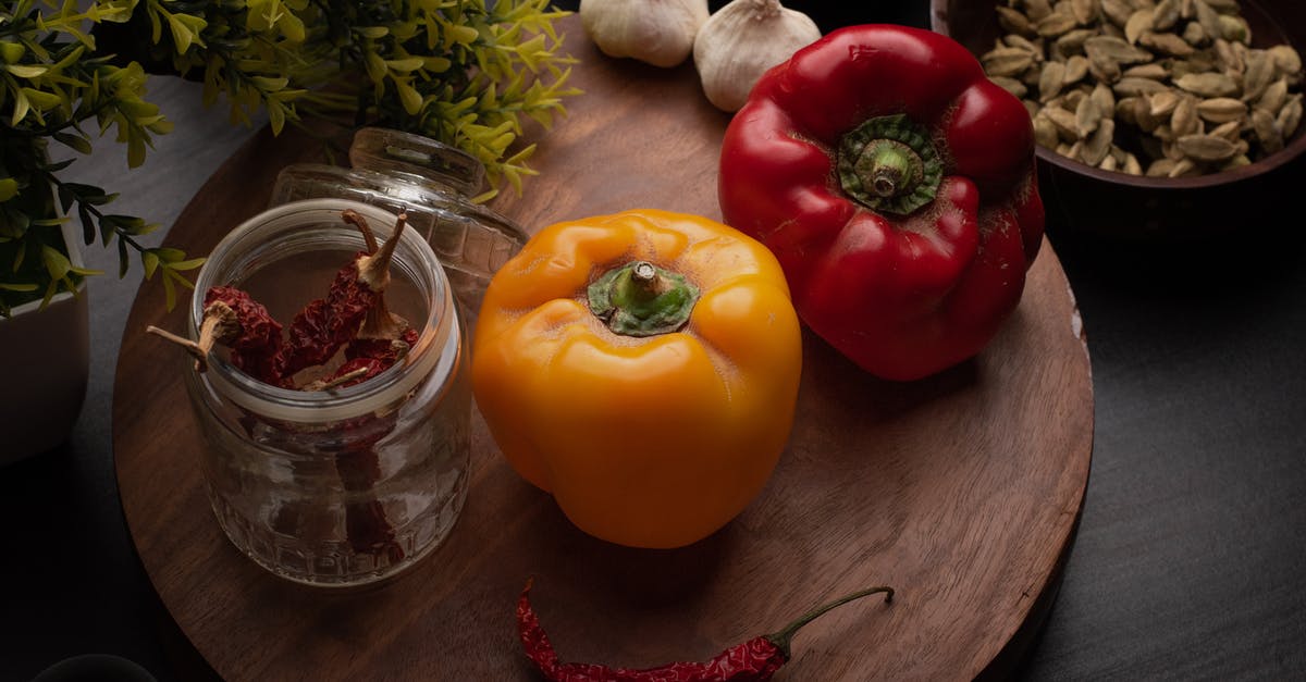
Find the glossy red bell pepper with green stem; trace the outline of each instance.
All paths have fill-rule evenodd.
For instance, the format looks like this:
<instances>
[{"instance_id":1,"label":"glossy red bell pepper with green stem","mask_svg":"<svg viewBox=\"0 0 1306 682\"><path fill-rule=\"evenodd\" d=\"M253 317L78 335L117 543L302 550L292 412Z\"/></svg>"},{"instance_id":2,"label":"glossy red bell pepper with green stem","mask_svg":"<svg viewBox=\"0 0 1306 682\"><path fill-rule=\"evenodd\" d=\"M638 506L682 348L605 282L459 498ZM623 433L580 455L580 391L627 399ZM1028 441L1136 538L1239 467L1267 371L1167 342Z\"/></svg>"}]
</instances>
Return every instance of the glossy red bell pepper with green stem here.
<instances>
[{"instance_id":1,"label":"glossy red bell pepper with green stem","mask_svg":"<svg viewBox=\"0 0 1306 682\"><path fill-rule=\"evenodd\" d=\"M726 129L718 193L803 321L893 380L980 353L1043 233L1029 114L908 26L840 29L767 72Z\"/></svg>"}]
</instances>

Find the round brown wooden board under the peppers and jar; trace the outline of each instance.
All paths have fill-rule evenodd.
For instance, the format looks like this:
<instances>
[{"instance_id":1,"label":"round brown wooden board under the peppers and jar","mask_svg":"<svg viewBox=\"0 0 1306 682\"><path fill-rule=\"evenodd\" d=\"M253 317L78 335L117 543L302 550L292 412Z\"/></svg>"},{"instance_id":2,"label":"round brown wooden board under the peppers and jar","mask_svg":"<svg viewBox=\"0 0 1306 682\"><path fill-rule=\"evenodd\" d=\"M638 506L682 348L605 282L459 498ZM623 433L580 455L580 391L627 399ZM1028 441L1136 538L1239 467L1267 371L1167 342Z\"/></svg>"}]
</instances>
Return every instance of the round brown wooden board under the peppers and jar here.
<instances>
[{"instance_id":1,"label":"round brown wooden board under the peppers and jar","mask_svg":"<svg viewBox=\"0 0 1306 682\"><path fill-rule=\"evenodd\" d=\"M498 208L530 230L648 206L720 218L716 165L729 116L692 67L598 54L575 17L571 115L539 136L524 197ZM191 201L168 243L208 252L259 212L276 172L312 158L266 131ZM222 677L530 679L513 608L528 576L565 660L649 666L705 658L866 585L897 589L799 634L786 679L968 679L1002 673L1046 611L1088 481L1087 346L1049 244L1024 300L977 359L895 384L804 334L791 444L761 496L690 547L619 547L576 530L502 460L474 415L466 510L409 574L349 594L282 581L222 536L205 447L148 324L180 329L161 287L138 294L118 363L114 452L131 536L162 601Z\"/></svg>"}]
</instances>

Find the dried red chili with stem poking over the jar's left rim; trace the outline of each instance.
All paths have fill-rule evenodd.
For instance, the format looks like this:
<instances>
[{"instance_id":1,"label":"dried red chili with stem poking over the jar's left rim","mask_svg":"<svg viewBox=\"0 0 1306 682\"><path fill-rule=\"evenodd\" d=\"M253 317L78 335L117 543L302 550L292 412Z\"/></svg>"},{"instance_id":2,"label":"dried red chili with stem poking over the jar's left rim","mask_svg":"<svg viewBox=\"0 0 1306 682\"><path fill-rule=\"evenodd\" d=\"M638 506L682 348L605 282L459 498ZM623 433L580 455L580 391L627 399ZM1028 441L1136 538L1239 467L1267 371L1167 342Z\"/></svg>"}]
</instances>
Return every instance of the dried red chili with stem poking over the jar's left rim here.
<instances>
[{"instance_id":1,"label":"dried red chili with stem poking over the jar's left rim","mask_svg":"<svg viewBox=\"0 0 1306 682\"><path fill-rule=\"evenodd\" d=\"M209 353L215 344L221 344L230 349L231 363L249 376L285 385L279 372L283 362L281 323L261 303L234 286L214 286L205 293L199 341L153 325L146 331L185 348L195 357L196 371L208 368Z\"/></svg>"}]
</instances>

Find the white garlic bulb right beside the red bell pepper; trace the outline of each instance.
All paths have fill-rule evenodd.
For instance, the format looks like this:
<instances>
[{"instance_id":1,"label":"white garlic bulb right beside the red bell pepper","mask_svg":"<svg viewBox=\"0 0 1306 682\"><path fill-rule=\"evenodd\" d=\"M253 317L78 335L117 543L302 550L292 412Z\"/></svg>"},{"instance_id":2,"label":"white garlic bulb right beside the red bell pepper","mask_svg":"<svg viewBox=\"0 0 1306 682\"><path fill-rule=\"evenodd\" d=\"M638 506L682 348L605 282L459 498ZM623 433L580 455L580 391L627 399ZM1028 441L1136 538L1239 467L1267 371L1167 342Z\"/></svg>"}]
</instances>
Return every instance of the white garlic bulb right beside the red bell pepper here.
<instances>
[{"instance_id":1,"label":"white garlic bulb right beside the red bell pepper","mask_svg":"<svg viewBox=\"0 0 1306 682\"><path fill-rule=\"evenodd\" d=\"M738 111L771 67L820 38L816 22L778 0L733 0L699 29L693 65L708 101Z\"/></svg>"}]
</instances>

